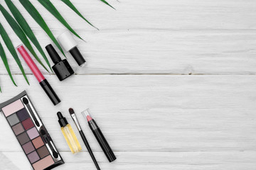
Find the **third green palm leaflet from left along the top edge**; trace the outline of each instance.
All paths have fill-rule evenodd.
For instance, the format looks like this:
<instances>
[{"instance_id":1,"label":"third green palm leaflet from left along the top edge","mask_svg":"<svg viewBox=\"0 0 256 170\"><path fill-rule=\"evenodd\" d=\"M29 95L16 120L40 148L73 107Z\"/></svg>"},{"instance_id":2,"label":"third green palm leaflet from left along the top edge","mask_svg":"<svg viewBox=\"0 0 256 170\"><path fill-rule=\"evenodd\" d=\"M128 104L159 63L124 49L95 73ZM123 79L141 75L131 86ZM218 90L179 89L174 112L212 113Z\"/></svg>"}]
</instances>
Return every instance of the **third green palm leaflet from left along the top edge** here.
<instances>
[{"instance_id":1,"label":"third green palm leaflet from left along the top edge","mask_svg":"<svg viewBox=\"0 0 256 170\"><path fill-rule=\"evenodd\" d=\"M53 14L53 16L55 16L55 18L58 19L58 21L60 21L60 23L63 24L63 26L65 26L66 28L68 28L68 30L70 30L70 32L72 32L75 36L77 36L78 38L80 38L82 40L82 38L78 35L78 33L75 33L75 30L73 30L73 28L71 28L71 26L67 23L67 21L65 21L65 19L63 18L63 16L61 16L60 12L55 8L55 6L53 6L53 4L50 2L50 0L38 0L51 14Z\"/></svg>"}]
</instances>

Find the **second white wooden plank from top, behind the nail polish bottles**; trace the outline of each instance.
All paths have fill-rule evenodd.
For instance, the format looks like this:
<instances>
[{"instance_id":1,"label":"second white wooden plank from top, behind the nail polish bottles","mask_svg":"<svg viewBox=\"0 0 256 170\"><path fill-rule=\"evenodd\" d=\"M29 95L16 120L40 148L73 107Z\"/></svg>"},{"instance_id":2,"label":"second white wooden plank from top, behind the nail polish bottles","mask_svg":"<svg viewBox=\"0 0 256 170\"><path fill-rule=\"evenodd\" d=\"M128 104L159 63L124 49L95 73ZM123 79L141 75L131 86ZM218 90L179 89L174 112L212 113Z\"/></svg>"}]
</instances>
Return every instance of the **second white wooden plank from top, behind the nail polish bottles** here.
<instances>
[{"instance_id":1,"label":"second white wooden plank from top, behind the nail polish bottles","mask_svg":"<svg viewBox=\"0 0 256 170\"><path fill-rule=\"evenodd\" d=\"M45 47L50 40L40 32L35 33ZM77 70L77 74L256 73L255 30L127 30L117 33L80 33L86 35L88 40L87 43L79 41L87 66L78 68L73 57L67 54L68 61ZM11 38L16 40L16 35L11 35ZM15 42L16 45L20 44L19 40ZM6 54L11 71L21 74L7 49ZM31 73L22 58L21 60L26 72ZM53 65L52 61L50 63ZM43 73L47 74L46 71ZM6 74L2 62L0 74Z\"/></svg>"}]
</instances>

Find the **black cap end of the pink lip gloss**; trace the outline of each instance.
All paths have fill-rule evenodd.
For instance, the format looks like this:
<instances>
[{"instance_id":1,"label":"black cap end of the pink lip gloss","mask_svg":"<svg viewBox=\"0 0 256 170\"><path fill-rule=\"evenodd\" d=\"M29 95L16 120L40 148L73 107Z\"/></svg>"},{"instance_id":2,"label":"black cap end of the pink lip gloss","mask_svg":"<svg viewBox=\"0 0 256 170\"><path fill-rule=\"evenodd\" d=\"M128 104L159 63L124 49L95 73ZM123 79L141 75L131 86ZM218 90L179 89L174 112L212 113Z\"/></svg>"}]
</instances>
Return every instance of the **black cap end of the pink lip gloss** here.
<instances>
[{"instance_id":1,"label":"black cap end of the pink lip gloss","mask_svg":"<svg viewBox=\"0 0 256 170\"><path fill-rule=\"evenodd\" d=\"M52 101L54 105L60 103L60 98L58 98L57 94L46 79L41 81L40 85L42 86L43 90L46 91L47 96L50 98L50 101Z\"/></svg>"}]
</instances>

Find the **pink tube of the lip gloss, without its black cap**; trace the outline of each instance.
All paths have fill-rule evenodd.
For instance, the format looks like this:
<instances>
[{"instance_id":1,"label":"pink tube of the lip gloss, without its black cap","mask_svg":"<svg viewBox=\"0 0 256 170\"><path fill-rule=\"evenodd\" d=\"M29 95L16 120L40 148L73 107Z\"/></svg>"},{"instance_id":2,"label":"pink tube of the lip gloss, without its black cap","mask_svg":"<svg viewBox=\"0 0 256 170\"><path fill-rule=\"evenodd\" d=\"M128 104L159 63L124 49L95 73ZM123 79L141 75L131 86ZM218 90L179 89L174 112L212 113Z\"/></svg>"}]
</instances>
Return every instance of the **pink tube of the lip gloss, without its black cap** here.
<instances>
[{"instance_id":1,"label":"pink tube of the lip gloss, without its black cap","mask_svg":"<svg viewBox=\"0 0 256 170\"><path fill-rule=\"evenodd\" d=\"M40 72L40 70L36 66L35 62L33 62L30 55L28 55L26 48L23 45L18 45L17 50L21 54L23 59L25 60L26 64L28 64L28 67L31 69L31 71L35 75L36 79L38 79L39 83L41 81L45 80L46 78L43 77L43 74Z\"/></svg>"}]
</instances>

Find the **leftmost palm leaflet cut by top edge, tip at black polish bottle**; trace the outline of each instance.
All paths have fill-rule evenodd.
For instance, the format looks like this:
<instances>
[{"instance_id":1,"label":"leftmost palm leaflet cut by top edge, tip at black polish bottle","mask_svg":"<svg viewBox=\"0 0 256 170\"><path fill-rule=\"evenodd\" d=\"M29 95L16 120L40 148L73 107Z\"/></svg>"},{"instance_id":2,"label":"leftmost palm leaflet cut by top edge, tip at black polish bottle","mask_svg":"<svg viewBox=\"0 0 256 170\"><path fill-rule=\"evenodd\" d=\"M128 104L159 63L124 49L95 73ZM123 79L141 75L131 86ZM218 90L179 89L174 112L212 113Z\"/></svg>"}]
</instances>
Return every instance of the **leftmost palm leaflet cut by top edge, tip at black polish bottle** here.
<instances>
[{"instance_id":1,"label":"leftmost palm leaflet cut by top edge, tip at black polish bottle","mask_svg":"<svg viewBox=\"0 0 256 170\"><path fill-rule=\"evenodd\" d=\"M26 22L25 18L21 15L21 12L18 11L18 8L14 5L14 3L11 0L5 0L7 6L9 7L11 13L14 15L14 18L18 22L18 24L21 26L23 29L24 33L28 36L28 38L33 42L33 44L36 46L38 51L41 53L43 56L44 60L46 60L46 63L48 64L48 67L50 67L50 62L48 61L46 54L43 52L43 49L41 45L39 44L36 36L34 35L33 31L31 30L31 27L28 25ZM52 71L51 67L50 70Z\"/></svg>"}]
</instances>

